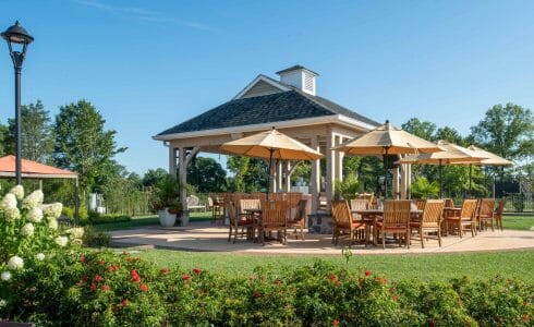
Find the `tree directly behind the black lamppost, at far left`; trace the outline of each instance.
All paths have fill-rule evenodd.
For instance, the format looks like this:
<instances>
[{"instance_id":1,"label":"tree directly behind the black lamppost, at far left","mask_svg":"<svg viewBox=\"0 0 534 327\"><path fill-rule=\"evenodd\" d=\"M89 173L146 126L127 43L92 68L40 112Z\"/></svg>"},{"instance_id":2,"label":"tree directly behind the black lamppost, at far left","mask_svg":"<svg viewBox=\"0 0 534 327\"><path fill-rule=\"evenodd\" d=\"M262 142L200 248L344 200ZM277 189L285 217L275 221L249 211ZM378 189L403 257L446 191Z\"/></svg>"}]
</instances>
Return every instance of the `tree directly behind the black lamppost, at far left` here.
<instances>
[{"instance_id":1,"label":"tree directly behind the black lamppost, at far left","mask_svg":"<svg viewBox=\"0 0 534 327\"><path fill-rule=\"evenodd\" d=\"M43 102L21 107L21 143L22 157L25 159L48 164L53 153L53 126L50 113L45 110ZM7 150L15 153L15 120L8 120L5 137Z\"/></svg>"}]
</instances>

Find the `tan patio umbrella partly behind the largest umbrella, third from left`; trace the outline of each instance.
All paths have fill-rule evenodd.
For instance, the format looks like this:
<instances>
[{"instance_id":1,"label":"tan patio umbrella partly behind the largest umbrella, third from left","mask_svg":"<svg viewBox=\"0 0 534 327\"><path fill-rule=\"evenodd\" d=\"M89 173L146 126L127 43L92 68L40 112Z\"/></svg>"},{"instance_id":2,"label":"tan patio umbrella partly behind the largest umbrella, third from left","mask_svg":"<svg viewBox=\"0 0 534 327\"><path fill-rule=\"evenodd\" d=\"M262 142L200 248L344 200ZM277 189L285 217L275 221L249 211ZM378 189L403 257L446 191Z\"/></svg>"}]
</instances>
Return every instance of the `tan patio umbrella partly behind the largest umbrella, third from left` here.
<instances>
[{"instance_id":1,"label":"tan patio umbrella partly behind the largest umbrella, third from left","mask_svg":"<svg viewBox=\"0 0 534 327\"><path fill-rule=\"evenodd\" d=\"M397 162L439 165L439 197L442 197L444 165L454 165L460 162L461 164L481 162L481 160L487 158L487 156L483 156L482 154L476 154L472 149L442 140L439 140L436 144L442 149L441 152L432 153L432 154L410 155L408 157L398 160Z\"/></svg>"}]
</instances>

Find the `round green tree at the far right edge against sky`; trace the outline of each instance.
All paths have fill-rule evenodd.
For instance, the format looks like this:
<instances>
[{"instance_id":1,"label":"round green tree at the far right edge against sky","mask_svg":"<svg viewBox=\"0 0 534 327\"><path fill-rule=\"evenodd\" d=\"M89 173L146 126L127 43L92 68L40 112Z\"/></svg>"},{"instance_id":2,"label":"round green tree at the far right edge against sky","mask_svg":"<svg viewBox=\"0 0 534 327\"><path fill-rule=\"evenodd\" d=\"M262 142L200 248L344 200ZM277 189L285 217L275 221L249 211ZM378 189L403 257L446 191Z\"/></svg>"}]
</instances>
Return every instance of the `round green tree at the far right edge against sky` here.
<instances>
[{"instance_id":1,"label":"round green tree at the far right edge against sky","mask_svg":"<svg viewBox=\"0 0 534 327\"><path fill-rule=\"evenodd\" d=\"M507 104L495 105L471 128L472 140L507 159L523 159L534 152L534 118L530 109Z\"/></svg>"}]
</instances>

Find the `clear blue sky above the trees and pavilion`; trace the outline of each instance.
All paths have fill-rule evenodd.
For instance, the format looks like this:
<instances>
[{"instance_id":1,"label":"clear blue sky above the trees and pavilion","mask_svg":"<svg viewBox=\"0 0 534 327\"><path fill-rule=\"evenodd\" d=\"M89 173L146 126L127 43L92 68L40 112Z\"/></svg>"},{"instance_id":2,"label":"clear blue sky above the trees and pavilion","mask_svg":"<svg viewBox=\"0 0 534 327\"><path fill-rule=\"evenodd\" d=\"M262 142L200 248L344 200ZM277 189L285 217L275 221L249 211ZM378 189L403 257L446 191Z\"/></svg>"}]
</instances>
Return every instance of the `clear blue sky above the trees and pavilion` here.
<instances>
[{"instance_id":1,"label":"clear blue sky above the trees and pavilion","mask_svg":"<svg viewBox=\"0 0 534 327\"><path fill-rule=\"evenodd\" d=\"M23 104L89 100L138 173L168 166L153 135L296 63L318 95L397 125L465 135L495 104L534 108L534 1L3 1L0 29L15 20L35 37ZM0 44L0 121L13 111Z\"/></svg>"}]
</instances>

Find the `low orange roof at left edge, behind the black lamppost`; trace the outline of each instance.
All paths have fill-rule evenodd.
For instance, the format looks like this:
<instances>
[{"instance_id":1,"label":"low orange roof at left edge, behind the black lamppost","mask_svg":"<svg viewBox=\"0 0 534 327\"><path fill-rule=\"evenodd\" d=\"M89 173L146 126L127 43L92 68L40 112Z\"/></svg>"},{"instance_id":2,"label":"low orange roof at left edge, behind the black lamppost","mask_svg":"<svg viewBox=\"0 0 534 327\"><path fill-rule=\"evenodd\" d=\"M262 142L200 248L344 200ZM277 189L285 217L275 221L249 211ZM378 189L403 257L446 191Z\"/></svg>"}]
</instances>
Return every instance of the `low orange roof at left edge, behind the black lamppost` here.
<instances>
[{"instance_id":1,"label":"low orange roof at left edge, behind the black lamppost","mask_svg":"<svg viewBox=\"0 0 534 327\"><path fill-rule=\"evenodd\" d=\"M22 159L22 175L26 178L77 178L75 172L47 166L36 161ZM15 173L15 156L0 158L0 177L13 177Z\"/></svg>"}]
</instances>

